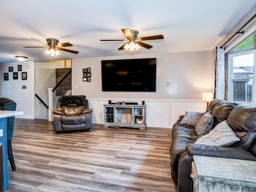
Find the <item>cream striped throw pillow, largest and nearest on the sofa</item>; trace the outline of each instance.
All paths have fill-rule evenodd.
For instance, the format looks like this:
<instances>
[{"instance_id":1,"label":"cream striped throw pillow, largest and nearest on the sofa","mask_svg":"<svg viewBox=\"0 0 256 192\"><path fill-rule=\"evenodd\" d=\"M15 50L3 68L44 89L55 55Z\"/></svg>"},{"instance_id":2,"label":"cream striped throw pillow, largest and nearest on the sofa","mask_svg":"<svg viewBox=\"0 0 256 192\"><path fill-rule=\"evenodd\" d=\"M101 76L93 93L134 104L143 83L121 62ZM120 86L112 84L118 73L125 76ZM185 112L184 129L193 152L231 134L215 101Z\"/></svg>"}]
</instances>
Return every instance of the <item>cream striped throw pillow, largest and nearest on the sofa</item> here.
<instances>
[{"instance_id":1,"label":"cream striped throw pillow, largest and nearest on the sofa","mask_svg":"<svg viewBox=\"0 0 256 192\"><path fill-rule=\"evenodd\" d=\"M195 143L227 147L239 140L240 138L236 136L233 130L228 126L227 121L224 120L216 125L214 129L210 130L208 134L198 138Z\"/></svg>"}]
</instances>

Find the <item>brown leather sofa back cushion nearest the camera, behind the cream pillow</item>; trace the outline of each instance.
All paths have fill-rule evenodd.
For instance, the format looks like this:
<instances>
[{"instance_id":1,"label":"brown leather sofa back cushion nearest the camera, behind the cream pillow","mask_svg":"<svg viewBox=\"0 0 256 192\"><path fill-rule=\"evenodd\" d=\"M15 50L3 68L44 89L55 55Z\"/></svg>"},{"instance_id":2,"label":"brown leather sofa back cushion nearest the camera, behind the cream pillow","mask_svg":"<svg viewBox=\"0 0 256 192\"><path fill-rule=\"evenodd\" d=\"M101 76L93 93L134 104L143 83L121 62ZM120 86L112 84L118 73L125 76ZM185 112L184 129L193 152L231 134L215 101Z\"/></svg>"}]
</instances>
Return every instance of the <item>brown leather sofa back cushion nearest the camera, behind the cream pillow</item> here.
<instances>
[{"instance_id":1,"label":"brown leather sofa back cushion nearest the camera, behind the cream pillow","mask_svg":"<svg viewBox=\"0 0 256 192\"><path fill-rule=\"evenodd\" d=\"M230 112L227 123L240 138L240 141L235 143L234 146L239 146L249 151L256 140L256 106L236 106Z\"/></svg>"}]
</instances>

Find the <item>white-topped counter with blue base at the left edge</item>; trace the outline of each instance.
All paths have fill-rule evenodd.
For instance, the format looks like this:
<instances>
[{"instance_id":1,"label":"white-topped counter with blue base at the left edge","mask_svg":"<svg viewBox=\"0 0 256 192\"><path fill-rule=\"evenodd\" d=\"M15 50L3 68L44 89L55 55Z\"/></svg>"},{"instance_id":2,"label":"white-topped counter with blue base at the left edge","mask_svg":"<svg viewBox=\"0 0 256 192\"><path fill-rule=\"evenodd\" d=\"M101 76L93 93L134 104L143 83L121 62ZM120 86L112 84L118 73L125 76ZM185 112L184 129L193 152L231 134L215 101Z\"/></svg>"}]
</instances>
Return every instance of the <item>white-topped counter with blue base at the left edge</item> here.
<instances>
[{"instance_id":1,"label":"white-topped counter with blue base at the left edge","mask_svg":"<svg viewBox=\"0 0 256 192\"><path fill-rule=\"evenodd\" d=\"M6 117L23 114L24 112L22 111L0 110L0 142L3 146L4 189L9 188Z\"/></svg>"}]
</instances>

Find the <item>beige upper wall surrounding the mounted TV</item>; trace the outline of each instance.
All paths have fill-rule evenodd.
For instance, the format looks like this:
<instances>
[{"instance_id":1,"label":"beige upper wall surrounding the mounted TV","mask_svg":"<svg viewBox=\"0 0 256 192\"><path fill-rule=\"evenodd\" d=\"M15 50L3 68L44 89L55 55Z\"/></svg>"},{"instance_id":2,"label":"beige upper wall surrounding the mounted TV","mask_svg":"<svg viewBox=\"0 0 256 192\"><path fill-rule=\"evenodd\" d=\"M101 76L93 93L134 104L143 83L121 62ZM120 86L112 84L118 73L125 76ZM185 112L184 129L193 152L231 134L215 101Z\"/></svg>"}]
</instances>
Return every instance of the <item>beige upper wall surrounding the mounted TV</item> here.
<instances>
[{"instance_id":1,"label":"beige upper wall surrounding the mounted TV","mask_svg":"<svg viewBox=\"0 0 256 192\"><path fill-rule=\"evenodd\" d=\"M131 56L81 58L72 60L72 94L106 99L202 100L202 92L212 91L212 52L141 54L132 58L156 58L156 92L102 92L101 60L130 59ZM82 81L82 69L91 68L91 82ZM170 81L170 85L166 85Z\"/></svg>"}]
</instances>

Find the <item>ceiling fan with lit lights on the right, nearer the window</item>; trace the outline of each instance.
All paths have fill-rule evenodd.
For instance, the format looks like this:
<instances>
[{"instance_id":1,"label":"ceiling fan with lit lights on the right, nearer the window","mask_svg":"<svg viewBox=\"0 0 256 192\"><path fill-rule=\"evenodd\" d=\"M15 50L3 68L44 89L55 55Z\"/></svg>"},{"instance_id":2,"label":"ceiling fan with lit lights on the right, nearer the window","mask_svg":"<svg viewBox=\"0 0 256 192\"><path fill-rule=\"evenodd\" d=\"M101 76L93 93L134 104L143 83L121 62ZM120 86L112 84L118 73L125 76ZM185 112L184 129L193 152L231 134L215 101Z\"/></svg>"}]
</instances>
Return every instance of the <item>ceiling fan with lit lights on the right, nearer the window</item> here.
<instances>
[{"instance_id":1,"label":"ceiling fan with lit lights on the right, nearer the window","mask_svg":"<svg viewBox=\"0 0 256 192\"><path fill-rule=\"evenodd\" d=\"M163 39L164 36L163 35L155 35L155 36L148 36L148 37L140 37L138 38L138 34L139 32L137 30L131 30L131 29L121 29L122 32L124 32L125 36L127 37L127 40L129 40L129 42L123 44L120 48L118 48L118 50L130 50L130 51L134 51L134 50L138 50L140 48L140 46L150 49L153 46L143 43L141 41L144 40L156 40L156 39ZM101 39L100 41L127 41L127 40L121 40L121 39Z\"/></svg>"}]
</instances>

